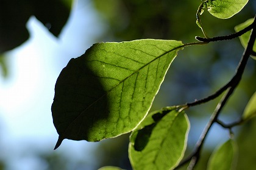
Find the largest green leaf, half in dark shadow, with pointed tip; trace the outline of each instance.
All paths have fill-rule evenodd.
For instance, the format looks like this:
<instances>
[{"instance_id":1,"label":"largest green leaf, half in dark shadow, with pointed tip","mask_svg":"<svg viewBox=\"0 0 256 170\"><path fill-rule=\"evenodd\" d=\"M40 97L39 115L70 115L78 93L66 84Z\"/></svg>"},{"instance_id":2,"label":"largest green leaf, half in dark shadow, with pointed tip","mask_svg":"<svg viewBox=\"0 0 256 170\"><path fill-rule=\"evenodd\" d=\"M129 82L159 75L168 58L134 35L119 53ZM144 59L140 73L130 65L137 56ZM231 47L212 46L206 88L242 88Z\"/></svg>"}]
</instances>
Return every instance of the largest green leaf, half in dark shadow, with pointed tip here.
<instances>
[{"instance_id":1,"label":"largest green leaf, half in dark shadow, with pointed tip","mask_svg":"<svg viewBox=\"0 0 256 170\"><path fill-rule=\"evenodd\" d=\"M56 147L65 138L99 141L133 130L148 113L182 45L150 39L98 43L72 58L55 85Z\"/></svg>"}]
</instances>

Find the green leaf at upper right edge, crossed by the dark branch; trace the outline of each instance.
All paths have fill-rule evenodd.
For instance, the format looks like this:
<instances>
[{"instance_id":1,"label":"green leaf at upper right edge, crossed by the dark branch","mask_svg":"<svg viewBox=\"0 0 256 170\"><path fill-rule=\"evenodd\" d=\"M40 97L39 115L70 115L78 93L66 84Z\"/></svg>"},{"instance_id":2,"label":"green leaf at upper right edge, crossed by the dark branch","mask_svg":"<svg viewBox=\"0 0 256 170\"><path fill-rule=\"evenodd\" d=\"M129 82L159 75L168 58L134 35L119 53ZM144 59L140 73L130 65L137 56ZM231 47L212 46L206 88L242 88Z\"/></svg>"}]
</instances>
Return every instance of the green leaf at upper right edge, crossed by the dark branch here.
<instances>
[{"instance_id":1,"label":"green leaf at upper right edge, crossed by the dark branch","mask_svg":"<svg viewBox=\"0 0 256 170\"><path fill-rule=\"evenodd\" d=\"M254 18L248 19L248 20L245 21L244 23L241 23L241 24L239 24L238 26L235 26L235 31L236 31L236 32L239 32L240 30L243 30L243 29L246 28L247 26L251 25L253 22L254 22ZM246 48L246 46L247 46L247 43L248 43L248 41L249 41L249 37L250 37L250 35L251 35L251 32L252 32L252 31L250 30L250 31L244 33L243 35L241 35L241 36L239 37L239 39L240 39L240 41L241 41L241 44L242 44L242 46L243 46L244 48ZM254 47L253 47L252 49L253 49L254 51L256 51L256 43L254 43ZM253 57L253 56L252 56L252 58L254 58L254 60L256 60L256 57Z\"/></svg>"}]
</instances>

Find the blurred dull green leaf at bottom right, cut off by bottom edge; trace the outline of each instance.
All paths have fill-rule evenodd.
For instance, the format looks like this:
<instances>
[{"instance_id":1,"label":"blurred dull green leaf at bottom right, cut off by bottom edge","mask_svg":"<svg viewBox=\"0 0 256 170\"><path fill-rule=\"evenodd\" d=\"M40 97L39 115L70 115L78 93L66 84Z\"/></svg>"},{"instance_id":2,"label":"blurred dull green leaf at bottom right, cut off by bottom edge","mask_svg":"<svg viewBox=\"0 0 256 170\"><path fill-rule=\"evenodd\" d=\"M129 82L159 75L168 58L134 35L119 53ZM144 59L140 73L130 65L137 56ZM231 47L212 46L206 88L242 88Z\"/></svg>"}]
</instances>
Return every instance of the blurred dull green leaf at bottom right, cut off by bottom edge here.
<instances>
[{"instance_id":1,"label":"blurred dull green leaf at bottom right, cut off by bottom edge","mask_svg":"<svg viewBox=\"0 0 256 170\"><path fill-rule=\"evenodd\" d=\"M217 147L208 161L207 170L234 169L236 165L236 147L236 143L233 140L228 140Z\"/></svg>"}]
</instances>

